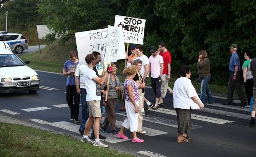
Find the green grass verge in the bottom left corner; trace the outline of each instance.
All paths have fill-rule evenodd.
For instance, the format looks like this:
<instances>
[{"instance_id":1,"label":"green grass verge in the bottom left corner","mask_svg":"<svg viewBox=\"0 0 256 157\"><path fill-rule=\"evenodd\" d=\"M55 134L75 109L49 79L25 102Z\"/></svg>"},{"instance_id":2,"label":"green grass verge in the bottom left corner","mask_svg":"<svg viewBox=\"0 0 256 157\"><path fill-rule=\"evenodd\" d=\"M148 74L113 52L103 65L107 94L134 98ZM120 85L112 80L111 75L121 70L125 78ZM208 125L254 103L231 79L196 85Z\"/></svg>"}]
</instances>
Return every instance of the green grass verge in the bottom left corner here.
<instances>
[{"instance_id":1,"label":"green grass verge in the bottom left corner","mask_svg":"<svg viewBox=\"0 0 256 157\"><path fill-rule=\"evenodd\" d=\"M0 123L1 157L132 157L113 149L94 147L65 135L19 124Z\"/></svg>"}]
</instances>

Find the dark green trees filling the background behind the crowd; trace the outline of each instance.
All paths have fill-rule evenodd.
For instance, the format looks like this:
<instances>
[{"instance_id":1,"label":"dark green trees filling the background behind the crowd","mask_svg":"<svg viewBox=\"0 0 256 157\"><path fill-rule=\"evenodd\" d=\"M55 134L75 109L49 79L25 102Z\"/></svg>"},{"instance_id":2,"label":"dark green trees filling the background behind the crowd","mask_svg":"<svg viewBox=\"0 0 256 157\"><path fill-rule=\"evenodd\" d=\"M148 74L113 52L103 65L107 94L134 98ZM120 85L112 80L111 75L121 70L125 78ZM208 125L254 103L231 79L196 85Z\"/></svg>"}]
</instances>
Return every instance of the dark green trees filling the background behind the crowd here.
<instances>
[{"instance_id":1,"label":"dark green trees filling the background behind the crowd","mask_svg":"<svg viewBox=\"0 0 256 157\"><path fill-rule=\"evenodd\" d=\"M75 32L113 26L115 15L146 19L147 56L150 47L165 41L172 53L172 73L186 64L197 75L198 52L204 49L212 80L221 85L227 82L228 46L238 44L241 65L244 50L256 56L256 0L15 0L6 2L0 14L6 10L10 26L46 24L62 37L62 44L74 39ZM2 24L4 20L0 16ZM0 25L0 30L4 28ZM53 40L53 35L46 38L47 43Z\"/></svg>"}]
</instances>

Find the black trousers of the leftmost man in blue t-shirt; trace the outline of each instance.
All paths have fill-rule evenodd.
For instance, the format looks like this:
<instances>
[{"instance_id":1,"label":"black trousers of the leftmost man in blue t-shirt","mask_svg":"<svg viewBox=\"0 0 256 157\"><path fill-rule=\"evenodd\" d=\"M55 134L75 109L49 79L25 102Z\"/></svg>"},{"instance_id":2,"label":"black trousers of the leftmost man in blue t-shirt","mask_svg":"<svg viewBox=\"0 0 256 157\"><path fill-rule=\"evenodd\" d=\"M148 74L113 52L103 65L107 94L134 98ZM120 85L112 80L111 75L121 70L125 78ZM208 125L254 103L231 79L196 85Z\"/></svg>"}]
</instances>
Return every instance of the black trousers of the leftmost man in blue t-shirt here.
<instances>
[{"instance_id":1,"label":"black trousers of the leftmost man in blue t-shirt","mask_svg":"<svg viewBox=\"0 0 256 157\"><path fill-rule=\"evenodd\" d=\"M76 92L76 85L66 86L66 101L70 108L71 116L77 119L80 107L80 94Z\"/></svg>"}]
</instances>

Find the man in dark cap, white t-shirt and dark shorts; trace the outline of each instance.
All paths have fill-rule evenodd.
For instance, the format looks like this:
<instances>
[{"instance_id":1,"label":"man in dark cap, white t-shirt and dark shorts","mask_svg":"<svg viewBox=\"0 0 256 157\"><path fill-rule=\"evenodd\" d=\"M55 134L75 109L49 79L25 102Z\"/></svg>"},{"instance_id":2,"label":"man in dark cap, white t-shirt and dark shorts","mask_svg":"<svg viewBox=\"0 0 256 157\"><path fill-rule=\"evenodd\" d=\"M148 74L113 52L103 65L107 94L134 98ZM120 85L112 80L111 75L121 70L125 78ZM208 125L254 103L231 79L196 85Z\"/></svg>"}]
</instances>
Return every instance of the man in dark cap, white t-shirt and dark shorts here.
<instances>
[{"instance_id":1,"label":"man in dark cap, white t-shirt and dark shorts","mask_svg":"<svg viewBox=\"0 0 256 157\"><path fill-rule=\"evenodd\" d=\"M151 87L154 90L156 95L156 103L152 108L153 110L158 109L157 105L159 99L161 98L161 78L164 70L164 60L161 55L157 53L156 47L151 47L150 53L152 54L149 57L149 74L151 73Z\"/></svg>"}]
</instances>

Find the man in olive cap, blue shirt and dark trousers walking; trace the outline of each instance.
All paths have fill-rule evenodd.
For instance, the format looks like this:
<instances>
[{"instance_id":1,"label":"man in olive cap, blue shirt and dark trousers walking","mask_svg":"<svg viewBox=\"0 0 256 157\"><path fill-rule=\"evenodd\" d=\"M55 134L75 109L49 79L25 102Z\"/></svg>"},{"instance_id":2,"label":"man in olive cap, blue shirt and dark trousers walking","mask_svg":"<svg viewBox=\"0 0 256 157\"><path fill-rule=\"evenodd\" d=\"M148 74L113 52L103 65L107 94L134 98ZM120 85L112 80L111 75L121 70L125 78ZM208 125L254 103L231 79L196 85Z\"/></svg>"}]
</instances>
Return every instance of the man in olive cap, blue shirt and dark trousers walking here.
<instances>
[{"instance_id":1,"label":"man in olive cap, blue shirt and dark trousers walking","mask_svg":"<svg viewBox=\"0 0 256 157\"><path fill-rule=\"evenodd\" d=\"M240 82L240 59L238 57L237 51L237 45L233 43L230 47L230 52L232 53L232 56L230 58L230 62L228 65L228 70L230 71L230 77L228 79L228 97L227 102L223 105L234 105L233 104L233 92L236 89L236 92L238 94L238 98L241 101L241 104L238 106L245 106L246 99L244 96L244 92L241 87Z\"/></svg>"}]
</instances>

